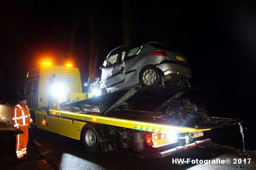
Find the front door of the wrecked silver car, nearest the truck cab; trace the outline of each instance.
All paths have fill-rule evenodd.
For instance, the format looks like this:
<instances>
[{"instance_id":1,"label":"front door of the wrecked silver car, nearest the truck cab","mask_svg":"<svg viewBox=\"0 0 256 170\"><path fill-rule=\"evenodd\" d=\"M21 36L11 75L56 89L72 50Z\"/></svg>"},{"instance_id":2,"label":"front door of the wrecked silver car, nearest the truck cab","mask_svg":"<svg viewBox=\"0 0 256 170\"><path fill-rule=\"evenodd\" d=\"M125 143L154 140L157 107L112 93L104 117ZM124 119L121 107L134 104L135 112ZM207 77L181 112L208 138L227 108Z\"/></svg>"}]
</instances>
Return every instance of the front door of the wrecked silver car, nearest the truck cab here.
<instances>
[{"instance_id":1,"label":"front door of the wrecked silver car, nearest the truck cab","mask_svg":"<svg viewBox=\"0 0 256 170\"><path fill-rule=\"evenodd\" d=\"M112 50L107 57L106 67L102 68L101 82L102 88L113 87L124 81L123 68L120 67L122 55L122 46Z\"/></svg>"}]
</instances>

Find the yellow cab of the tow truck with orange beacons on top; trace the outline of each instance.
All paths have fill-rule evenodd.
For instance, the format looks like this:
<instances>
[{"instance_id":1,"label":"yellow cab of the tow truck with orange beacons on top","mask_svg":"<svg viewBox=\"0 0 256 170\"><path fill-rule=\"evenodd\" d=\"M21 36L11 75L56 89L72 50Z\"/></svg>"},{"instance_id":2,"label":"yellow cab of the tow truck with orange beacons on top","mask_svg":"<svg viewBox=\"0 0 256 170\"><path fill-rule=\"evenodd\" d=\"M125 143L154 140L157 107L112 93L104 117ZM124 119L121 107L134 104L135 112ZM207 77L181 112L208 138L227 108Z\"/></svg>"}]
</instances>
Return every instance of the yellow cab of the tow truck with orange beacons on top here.
<instances>
[{"instance_id":1,"label":"yellow cab of the tow truck with orange beacons on top","mask_svg":"<svg viewBox=\"0 0 256 170\"><path fill-rule=\"evenodd\" d=\"M28 71L26 81L20 82L30 109L48 107L48 97L58 96L58 102L72 102L90 98L82 93L81 78L78 68L66 65L43 63L38 68ZM21 89L19 87L19 89Z\"/></svg>"}]
</instances>

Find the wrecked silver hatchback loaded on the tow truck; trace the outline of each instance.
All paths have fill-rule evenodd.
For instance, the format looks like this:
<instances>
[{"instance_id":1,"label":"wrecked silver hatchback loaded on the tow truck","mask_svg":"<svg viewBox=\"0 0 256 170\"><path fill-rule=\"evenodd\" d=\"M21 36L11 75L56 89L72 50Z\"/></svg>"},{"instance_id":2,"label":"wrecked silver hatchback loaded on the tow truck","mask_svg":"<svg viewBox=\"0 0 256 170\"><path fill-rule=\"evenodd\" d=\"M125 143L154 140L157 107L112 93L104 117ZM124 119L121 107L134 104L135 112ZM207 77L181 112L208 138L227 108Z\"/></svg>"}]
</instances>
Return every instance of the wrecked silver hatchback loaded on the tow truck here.
<instances>
[{"instance_id":1,"label":"wrecked silver hatchback loaded on the tow truck","mask_svg":"<svg viewBox=\"0 0 256 170\"><path fill-rule=\"evenodd\" d=\"M192 78L186 57L160 42L146 42L127 49L119 46L108 54L100 68L99 86L103 93L136 85L183 87Z\"/></svg>"}]
</instances>

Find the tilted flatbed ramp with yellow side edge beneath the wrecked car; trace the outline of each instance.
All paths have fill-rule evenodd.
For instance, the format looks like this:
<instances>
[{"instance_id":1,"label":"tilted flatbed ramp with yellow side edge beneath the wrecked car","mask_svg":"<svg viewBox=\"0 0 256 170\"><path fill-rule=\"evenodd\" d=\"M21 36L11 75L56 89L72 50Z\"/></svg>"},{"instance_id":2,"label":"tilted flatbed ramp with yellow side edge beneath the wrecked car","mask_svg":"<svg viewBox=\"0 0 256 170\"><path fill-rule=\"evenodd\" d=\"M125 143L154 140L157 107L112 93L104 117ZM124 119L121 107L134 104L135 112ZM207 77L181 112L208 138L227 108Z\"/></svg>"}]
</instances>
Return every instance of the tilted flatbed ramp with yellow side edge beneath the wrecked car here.
<instances>
[{"instance_id":1,"label":"tilted flatbed ramp with yellow side edge beneath the wrecked car","mask_svg":"<svg viewBox=\"0 0 256 170\"><path fill-rule=\"evenodd\" d=\"M183 121L180 123L171 122L166 119L163 111L170 102L179 98L182 94L188 91L194 91L198 88L157 88L146 89L142 87L134 87L129 91L118 91L111 94L84 99L76 102L64 104L64 107L75 108L84 105L99 108L98 112L67 112L51 110L52 113L59 113L73 119L86 120L89 122L97 122L113 126L120 126L130 129L143 130L156 133L166 133L168 130L175 130L177 133L188 133L211 130L218 127L236 124L239 120L204 117L200 121ZM140 103L146 99L163 99L154 111L138 111L138 110L119 110L118 107L125 102ZM167 115L168 116L168 115Z\"/></svg>"}]
</instances>

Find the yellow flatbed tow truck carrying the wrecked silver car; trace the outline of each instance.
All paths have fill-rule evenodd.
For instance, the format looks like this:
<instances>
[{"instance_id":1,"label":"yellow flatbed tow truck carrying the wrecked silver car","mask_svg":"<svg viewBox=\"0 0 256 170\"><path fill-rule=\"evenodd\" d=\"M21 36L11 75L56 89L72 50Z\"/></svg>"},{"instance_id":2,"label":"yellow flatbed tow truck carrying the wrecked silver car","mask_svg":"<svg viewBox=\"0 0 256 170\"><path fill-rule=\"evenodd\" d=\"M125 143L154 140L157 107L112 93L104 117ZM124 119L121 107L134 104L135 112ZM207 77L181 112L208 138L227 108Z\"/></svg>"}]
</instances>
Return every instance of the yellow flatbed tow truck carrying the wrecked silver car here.
<instances>
[{"instance_id":1,"label":"yellow flatbed tow truck carrying the wrecked silver car","mask_svg":"<svg viewBox=\"0 0 256 170\"><path fill-rule=\"evenodd\" d=\"M131 148L143 153L137 159L161 159L211 142L197 140L204 131L240 121L209 117L189 99L181 99L198 89L192 87L135 86L92 97L81 91L79 69L66 65L43 64L30 70L20 85L34 128L81 140L93 153ZM146 154L145 149L155 151Z\"/></svg>"}]
</instances>

